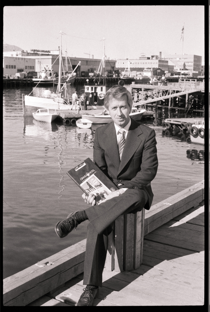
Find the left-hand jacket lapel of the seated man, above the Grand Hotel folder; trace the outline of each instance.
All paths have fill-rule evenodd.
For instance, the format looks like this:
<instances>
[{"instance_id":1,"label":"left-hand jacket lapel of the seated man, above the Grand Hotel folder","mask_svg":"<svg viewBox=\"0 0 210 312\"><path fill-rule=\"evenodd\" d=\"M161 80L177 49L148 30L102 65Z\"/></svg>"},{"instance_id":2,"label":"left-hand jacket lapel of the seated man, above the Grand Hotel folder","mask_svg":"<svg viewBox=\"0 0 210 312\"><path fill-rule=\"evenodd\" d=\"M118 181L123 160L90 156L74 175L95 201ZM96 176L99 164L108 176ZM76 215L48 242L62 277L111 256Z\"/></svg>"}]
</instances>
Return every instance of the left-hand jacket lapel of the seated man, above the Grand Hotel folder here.
<instances>
[{"instance_id":1,"label":"left-hand jacket lapel of the seated man, above the Grand Hotel folder","mask_svg":"<svg viewBox=\"0 0 210 312\"><path fill-rule=\"evenodd\" d=\"M120 166L120 155L117 145L117 135L114 122L111 122L109 124L109 127L104 131L104 133L106 134L105 136L105 144L107 147L106 152L109 154L109 157L113 165L118 170Z\"/></svg>"}]
</instances>

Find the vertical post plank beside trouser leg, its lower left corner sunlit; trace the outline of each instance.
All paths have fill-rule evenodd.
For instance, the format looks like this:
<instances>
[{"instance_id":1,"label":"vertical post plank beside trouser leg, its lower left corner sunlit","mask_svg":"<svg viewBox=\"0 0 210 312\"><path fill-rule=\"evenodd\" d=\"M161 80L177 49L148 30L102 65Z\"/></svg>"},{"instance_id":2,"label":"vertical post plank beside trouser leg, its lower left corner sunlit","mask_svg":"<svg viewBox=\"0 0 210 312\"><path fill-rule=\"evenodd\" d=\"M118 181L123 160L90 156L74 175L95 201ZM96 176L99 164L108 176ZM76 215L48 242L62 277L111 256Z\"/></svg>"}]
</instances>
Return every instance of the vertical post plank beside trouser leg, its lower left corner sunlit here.
<instances>
[{"instance_id":1,"label":"vertical post plank beside trouser leg, its lower left corner sunlit","mask_svg":"<svg viewBox=\"0 0 210 312\"><path fill-rule=\"evenodd\" d=\"M114 271L123 271L123 237L124 237L124 216L115 220L115 259Z\"/></svg>"}]
</instances>

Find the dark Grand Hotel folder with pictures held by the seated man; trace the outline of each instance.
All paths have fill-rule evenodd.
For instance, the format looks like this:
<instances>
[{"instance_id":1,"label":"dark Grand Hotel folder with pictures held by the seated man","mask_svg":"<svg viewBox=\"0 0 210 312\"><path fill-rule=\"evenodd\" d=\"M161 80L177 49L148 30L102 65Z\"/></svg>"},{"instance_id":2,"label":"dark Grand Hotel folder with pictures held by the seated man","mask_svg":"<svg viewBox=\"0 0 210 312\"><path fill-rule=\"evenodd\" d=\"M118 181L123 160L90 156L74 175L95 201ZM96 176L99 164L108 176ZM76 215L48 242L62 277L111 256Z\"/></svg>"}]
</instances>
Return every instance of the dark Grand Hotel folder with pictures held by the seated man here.
<instances>
[{"instance_id":1,"label":"dark Grand Hotel folder with pictures held by the seated man","mask_svg":"<svg viewBox=\"0 0 210 312\"><path fill-rule=\"evenodd\" d=\"M100 204L111 192L118 187L92 162L85 159L67 174L87 195L95 195L96 204ZM106 195L105 195L106 194Z\"/></svg>"}]
</instances>

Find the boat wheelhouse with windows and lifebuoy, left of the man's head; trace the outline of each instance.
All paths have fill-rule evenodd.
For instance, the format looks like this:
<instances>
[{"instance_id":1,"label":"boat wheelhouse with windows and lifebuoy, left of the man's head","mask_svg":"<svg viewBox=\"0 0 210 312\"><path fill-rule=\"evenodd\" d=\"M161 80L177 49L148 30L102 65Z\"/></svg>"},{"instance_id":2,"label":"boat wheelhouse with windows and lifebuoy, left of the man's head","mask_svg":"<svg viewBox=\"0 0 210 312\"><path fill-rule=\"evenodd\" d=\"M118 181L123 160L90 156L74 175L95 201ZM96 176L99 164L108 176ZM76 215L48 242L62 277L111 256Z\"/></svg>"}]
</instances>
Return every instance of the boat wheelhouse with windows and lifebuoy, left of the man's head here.
<instances>
[{"instance_id":1,"label":"boat wheelhouse with windows and lifebuoy, left of the man's head","mask_svg":"<svg viewBox=\"0 0 210 312\"><path fill-rule=\"evenodd\" d=\"M84 92L88 96L89 105L103 106L103 99L106 94L106 85L85 85Z\"/></svg>"}]
</instances>

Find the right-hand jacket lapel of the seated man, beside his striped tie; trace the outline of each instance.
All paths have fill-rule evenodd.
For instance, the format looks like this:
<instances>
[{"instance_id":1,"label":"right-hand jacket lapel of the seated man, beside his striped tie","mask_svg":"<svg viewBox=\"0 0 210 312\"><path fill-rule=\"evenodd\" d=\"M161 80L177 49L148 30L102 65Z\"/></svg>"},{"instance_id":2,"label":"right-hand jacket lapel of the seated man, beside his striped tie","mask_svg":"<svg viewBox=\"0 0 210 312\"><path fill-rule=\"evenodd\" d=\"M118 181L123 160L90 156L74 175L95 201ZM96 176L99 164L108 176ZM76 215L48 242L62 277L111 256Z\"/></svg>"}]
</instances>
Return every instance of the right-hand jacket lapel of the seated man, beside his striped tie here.
<instances>
[{"instance_id":1,"label":"right-hand jacket lapel of the seated man, beside his striped tie","mask_svg":"<svg viewBox=\"0 0 210 312\"><path fill-rule=\"evenodd\" d=\"M135 120L131 119L131 126L128 130L128 134L126 137L125 146L122 153L122 158L120 162L120 167L118 170L118 174L122 171L122 169L125 167L127 162L130 160L130 158L133 156L133 154L136 152L136 149L141 144L141 139L139 137L140 134L142 134L141 128L138 127L139 124L135 122ZM118 147L117 147L118 149ZM119 152L118 152L119 153Z\"/></svg>"}]
</instances>

